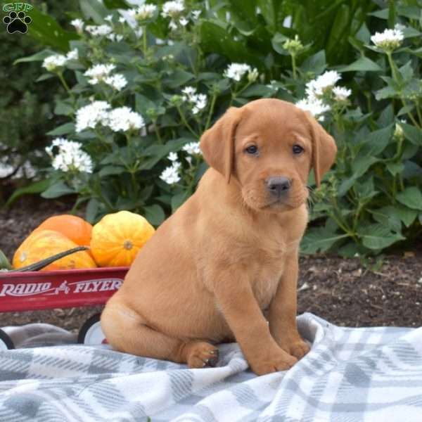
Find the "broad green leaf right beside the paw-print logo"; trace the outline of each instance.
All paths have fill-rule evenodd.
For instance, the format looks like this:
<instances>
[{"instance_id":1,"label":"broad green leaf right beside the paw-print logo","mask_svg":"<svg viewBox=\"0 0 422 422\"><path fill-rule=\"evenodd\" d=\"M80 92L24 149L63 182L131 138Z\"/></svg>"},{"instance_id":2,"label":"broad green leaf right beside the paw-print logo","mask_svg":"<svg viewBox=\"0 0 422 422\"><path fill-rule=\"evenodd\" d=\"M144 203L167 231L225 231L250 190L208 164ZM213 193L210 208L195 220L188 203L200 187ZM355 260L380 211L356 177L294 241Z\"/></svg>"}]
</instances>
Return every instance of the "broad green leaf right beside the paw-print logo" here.
<instances>
[{"instance_id":1,"label":"broad green leaf right beside the paw-print logo","mask_svg":"<svg viewBox=\"0 0 422 422\"><path fill-rule=\"evenodd\" d=\"M36 8L32 9L30 15L32 23L28 26L27 34L44 46L51 46L53 49L65 53L69 51L69 42L72 39L79 39L78 34L63 30L56 20L49 15L44 15Z\"/></svg>"}]
</instances>

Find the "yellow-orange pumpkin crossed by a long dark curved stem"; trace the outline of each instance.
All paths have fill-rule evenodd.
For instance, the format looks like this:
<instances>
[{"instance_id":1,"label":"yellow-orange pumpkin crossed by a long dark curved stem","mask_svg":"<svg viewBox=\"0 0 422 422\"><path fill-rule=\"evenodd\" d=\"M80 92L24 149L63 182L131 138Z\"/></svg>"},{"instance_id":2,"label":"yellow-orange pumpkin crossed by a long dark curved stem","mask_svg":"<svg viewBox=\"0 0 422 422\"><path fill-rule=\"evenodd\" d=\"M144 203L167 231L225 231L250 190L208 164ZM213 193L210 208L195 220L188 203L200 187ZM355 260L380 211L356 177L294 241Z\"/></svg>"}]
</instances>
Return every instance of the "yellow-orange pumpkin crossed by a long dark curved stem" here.
<instances>
[{"instance_id":1,"label":"yellow-orange pumpkin crossed by a long dark curved stem","mask_svg":"<svg viewBox=\"0 0 422 422\"><path fill-rule=\"evenodd\" d=\"M13 268L19 269L27 265L34 264L44 260L45 258L56 255L59 252L64 252L78 245L72 242L66 236L58 231L53 230L39 230L32 232L22 245L16 250L13 256ZM82 250L80 252L72 253L67 257L60 258L41 269L41 271L49 271L54 269L75 269L75 268L95 268L96 263L89 256L89 254Z\"/></svg>"}]
</instances>

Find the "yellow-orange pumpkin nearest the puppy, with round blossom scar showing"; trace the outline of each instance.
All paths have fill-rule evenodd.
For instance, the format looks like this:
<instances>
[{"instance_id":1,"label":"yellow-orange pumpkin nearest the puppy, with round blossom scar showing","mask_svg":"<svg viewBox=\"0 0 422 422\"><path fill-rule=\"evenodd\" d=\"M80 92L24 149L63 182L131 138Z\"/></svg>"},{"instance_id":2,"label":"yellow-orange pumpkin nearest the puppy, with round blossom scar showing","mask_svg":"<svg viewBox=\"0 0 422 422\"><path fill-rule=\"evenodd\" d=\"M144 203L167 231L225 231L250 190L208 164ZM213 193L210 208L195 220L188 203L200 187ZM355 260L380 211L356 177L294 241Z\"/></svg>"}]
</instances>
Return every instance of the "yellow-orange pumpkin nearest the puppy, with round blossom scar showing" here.
<instances>
[{"instance_id":1,"label":"yellow-orange pumpkin nearest the puppy, with round blossom scar showing","mask_svg":"<svg viewBox=\"0 0 422 422\"><path fill-rule=\"evenodd\" d=\"M92 229L91 252L99 267L126 267L154 233L141 215L129 211L108 214Z\"/></svg>"}]
</instances>

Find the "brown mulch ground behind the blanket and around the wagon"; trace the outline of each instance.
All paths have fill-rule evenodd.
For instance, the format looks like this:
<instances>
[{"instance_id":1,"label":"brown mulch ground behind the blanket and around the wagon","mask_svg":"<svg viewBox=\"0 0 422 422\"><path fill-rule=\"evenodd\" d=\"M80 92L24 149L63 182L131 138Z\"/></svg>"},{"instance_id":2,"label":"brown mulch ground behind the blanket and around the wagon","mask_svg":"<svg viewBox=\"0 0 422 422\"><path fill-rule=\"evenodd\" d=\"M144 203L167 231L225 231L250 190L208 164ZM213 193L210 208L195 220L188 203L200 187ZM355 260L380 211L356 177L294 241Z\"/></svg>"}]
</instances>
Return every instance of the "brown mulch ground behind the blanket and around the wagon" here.
<instances>
[{"instance_id":1,"label":"brown mulch ground behind the blanket and around the wagon","mask_svg":"<svg viewBox=\"0 0 422 422\"><path fill-rule=\"evenodd\" d=\"M26 197L9 210L0 208L0 249L11 259L34 227L71 207L69 201ZM298 286L298 313L312 312L340 326L422 325L421 252L389 255L378 271L365 269L357 259L302 257ZM44 322L78 331L100 311L101 306L8 312L0 314L0 326Z\"/></svg>"}]
</instances>

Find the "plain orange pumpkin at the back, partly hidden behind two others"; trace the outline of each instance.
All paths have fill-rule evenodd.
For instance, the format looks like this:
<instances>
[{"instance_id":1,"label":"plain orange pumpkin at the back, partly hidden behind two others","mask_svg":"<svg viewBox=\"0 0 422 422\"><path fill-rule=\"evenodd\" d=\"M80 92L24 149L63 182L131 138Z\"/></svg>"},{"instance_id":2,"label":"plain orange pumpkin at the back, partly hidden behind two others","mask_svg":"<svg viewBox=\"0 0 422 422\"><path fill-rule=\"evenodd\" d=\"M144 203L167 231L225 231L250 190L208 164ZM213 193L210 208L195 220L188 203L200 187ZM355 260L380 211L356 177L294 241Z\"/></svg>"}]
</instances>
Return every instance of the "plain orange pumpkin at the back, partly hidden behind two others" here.
<instances>
[{"instance_id":1,"label":"plain orange pumpkin at the back, partly hidden behind two others","mask_svg":"<svg viewBox=\"0 0 422 422\"><path fill-rule=\"evenodd\" d=\"M76 215L53 215L39 224L32 233L39 230L58 231L79 246L89 246L91 242L91 224Z\"/></svg>"}]
</instances>

